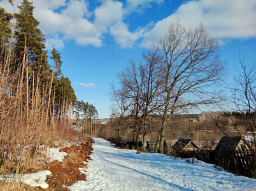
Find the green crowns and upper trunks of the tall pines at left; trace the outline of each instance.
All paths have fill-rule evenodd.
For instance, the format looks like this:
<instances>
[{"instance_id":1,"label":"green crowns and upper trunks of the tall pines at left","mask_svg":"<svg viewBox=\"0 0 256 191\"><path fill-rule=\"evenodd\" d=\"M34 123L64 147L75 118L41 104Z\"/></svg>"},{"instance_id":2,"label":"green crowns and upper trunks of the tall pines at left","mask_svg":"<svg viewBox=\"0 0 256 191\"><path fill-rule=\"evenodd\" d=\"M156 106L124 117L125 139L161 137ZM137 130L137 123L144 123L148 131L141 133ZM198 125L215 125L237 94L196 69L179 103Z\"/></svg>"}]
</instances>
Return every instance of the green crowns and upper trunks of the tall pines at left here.
<instances>
[{"instance_id":1,"label":"green crowns and upper trunks of the tall pines at left","mask_svg":"<svg viewBox=\"0 0 256 191\"><path fill-rule=\"evenodd\" d=\"M38 20L34 18L32 1L24 0L18 8L19 13L13 15L7 13L4 8L0 8L0 74L6 72L3 68L8 58L10 73L18 73L17 78L14 79L16 87L12 87L11 95L18 95L18 86L20 86L20 92L24 90L25 81L29 89L35 90L34 83L39 80L38 90L40 95L45 95L44 104L48 105L45 115L49 118L47 117L46 120L50 122L52 114L55 115L54 118L61 119L76 103L75 90L69 78L62 74L61 56L55 48L49 57L53 60L53 66L51 67L48 62L45 35L38 28ZM11 19L15 24L11 24ZM32 94L31 92L31 96ZM54 108L54 113L51 108Z\"/></svg>"}]
</instances>

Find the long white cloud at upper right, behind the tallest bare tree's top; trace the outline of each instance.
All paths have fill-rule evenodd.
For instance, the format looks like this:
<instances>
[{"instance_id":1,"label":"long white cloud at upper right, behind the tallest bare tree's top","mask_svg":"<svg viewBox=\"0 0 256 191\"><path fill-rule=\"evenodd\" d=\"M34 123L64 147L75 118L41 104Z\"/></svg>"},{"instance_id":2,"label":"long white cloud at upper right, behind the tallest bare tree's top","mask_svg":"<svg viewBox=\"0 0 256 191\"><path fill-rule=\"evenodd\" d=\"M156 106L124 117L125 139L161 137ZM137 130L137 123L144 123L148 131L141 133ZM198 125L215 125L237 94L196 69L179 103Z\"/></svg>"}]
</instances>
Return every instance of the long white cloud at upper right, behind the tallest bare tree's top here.
<instances>
[{"instance_id":1,"label":"long white cloud at upper right, behind the tallest bare tree's top","mask_svg":"<svg viewBox=\"0 0 256 191\"><path fill-rule=\"evenodd\" d=\"M157 22L144 36L141 46L149 46L164 36L171 22L180 20L187 27L203 23L219 39L256 36L256 0L199 0L182 4L172 15Z\"/></svg>"}]
</instances>

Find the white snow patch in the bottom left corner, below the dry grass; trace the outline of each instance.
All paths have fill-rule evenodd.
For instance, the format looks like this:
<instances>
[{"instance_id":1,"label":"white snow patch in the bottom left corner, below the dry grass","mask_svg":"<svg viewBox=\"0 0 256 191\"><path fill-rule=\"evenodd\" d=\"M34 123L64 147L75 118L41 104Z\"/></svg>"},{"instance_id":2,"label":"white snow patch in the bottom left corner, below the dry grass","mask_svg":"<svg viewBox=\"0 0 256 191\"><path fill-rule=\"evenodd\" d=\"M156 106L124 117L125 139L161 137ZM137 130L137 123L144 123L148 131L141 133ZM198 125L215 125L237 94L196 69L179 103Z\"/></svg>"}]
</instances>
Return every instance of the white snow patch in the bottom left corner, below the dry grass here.
<instances>
[{"instance_id":1,"label":"white snow patch in the bottom left corner, below the dry grass","mask_svg":"<svg viewBox=\"0 0 256 191\"><path fill-rule=\"evenodd\" d=\"M21 176L19 174L18 179L22 178L22 182L27 183L28 185L31 185L31 187L42 187L42 188L48 188L49 185L45 182L46 176L52 174L51 171L39 171L38 173L29 173L24 174ZM13 181L15 177L15 174L12 176L9 175L8 177L1 176L0 180L5 180L8 182Z\"/></svg>"}]
</instances>

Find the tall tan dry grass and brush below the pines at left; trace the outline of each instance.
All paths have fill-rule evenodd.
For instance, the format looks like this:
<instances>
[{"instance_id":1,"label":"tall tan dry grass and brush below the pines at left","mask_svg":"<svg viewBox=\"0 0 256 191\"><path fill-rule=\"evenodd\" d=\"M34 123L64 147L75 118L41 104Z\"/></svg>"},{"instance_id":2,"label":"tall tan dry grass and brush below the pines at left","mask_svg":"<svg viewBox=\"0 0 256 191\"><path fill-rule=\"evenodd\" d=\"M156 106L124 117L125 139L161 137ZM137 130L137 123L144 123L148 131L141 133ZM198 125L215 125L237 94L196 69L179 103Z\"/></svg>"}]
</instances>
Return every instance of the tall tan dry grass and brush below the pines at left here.
<instances>
[{"instance_id":1,"label":"tall tan dry grass and brush below the pines at left","mask_svg":"<svg viewBox=\"0 0 256 191\"><path fill-rule=\"evenodd\" d=\"M54 146L54 141L81 143L88 138L67 125L66 114L55 120L55 97L50 96L54 88L43 77L44 63L31 71L28 58L25 54L24 59L17 58L11 42L0 52L0 176L16 174L14 183L19 182L18 174L41 168L39 160L46 160L41 151ZM68 113L67 102L60 107Z\"/></svg>"}]
</instances>

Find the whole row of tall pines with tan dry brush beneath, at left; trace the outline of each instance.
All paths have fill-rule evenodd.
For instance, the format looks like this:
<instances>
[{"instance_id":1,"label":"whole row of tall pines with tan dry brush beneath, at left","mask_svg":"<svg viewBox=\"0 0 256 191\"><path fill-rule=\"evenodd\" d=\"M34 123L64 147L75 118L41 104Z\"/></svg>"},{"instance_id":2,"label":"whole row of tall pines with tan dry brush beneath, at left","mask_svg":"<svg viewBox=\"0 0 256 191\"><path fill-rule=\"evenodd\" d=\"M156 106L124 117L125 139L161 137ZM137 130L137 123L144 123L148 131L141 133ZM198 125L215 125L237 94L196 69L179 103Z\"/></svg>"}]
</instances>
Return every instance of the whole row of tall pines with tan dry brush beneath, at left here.
<instances>
[{"instance_id":1,"label":"whole row of tall pines with tan dry brush beneath, at left","mask_svg":"<svg viewBox=\"0 0 256 191\"><path fill-rule=\"evenodd\" d=\"M45 50L32 2L18 9L11 14L0 7L0 174L17 178L36 164L41 144L86 139L68 126L80 102L62 74L60 53ZM88 110L90 119L96 117L93 105Z\"/></svg>"}]
</instances>

